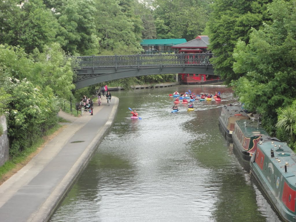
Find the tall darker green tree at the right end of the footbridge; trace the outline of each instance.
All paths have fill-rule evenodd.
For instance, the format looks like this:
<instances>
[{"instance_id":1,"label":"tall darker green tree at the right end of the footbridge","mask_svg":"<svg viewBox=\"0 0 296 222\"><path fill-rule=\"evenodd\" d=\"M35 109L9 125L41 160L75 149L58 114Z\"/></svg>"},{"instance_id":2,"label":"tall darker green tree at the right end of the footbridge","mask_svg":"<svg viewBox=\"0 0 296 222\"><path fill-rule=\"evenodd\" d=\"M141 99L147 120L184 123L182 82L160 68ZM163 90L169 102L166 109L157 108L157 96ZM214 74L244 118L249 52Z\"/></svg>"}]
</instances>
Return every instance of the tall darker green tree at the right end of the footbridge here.
<instances>
[{"instance_id":1,"label":"tall darker green tree at the right end of the footbridge","mask_svg":"<svg viewBox=\"0 0 296 222\"><path fill-rule=\"evenodd\" d=\"M207 23L209 48L215 54L211 62L215 74L220 75L226 84L245 75L232 70L232 53L237 40L247 44L252 28L258 29L263 21L269 21L266 8L269 2L272 0L217 0L211 5L212 12Z\"/></svg>"}]
</instances>

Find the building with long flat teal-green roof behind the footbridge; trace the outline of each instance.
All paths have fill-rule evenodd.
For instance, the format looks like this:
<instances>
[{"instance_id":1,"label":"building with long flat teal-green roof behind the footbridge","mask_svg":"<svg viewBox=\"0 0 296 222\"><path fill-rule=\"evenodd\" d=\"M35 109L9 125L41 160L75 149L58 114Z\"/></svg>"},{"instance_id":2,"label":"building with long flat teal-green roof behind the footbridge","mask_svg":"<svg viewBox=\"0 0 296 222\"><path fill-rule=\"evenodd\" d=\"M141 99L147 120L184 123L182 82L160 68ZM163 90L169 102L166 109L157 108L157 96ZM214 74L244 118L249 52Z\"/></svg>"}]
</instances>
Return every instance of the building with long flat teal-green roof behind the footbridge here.
<instances>
[{"instance_id":1,"label":"building with long flat teal-green roof behind the footbridge","mask_svg":"<svg viewBox=\"0 0 296 222\"><path fill-rule=\"evenodd\" d=\"M146 54L154 54L159 52L175 52L171 47L185 42L185 38L142 39L140 45Z\"/></svg>"}]
</instances>

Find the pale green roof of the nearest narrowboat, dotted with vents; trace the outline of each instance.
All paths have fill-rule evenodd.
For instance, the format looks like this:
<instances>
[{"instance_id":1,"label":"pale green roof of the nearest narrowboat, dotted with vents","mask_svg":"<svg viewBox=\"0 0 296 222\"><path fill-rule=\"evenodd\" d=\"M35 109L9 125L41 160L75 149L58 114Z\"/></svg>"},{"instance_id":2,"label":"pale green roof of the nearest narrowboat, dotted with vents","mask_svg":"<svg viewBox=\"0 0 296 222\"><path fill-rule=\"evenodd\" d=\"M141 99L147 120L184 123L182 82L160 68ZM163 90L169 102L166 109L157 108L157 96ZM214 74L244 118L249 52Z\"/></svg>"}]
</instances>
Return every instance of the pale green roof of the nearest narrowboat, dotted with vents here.
<instances>
[{"instance_id":1,"label":"pale green roof of the nearest narrowboat, dotted with vents","mask_svg":"<svg viewBox=\"0 0 296 222\"><path fill-rule=\"evenodd\" d=\"M295 152L279 139L270 136L262 136L258 143L265 158L269 158L274 166L282 173L283 177L289 181L291 186L296 184L296 159ZM274 157L271 157L271 149L274 150ZM287 165L287 173L285 173L285 165Z\"/></svg>"}]
</instances>

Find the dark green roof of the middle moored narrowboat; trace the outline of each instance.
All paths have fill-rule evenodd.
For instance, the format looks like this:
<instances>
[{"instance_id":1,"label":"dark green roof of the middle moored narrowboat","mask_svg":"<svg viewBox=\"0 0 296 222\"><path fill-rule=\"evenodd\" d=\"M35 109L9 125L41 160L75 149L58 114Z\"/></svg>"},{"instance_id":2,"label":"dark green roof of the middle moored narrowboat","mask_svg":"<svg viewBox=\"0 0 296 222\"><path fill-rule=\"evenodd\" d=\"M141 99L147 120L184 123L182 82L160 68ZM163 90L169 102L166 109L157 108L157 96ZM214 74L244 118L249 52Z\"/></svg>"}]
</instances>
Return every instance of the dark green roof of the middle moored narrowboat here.
<instances>
[{"instance_id":1,"label":"dark green roof of the middle moored narrowboat","mask_svg":"<svg viewBox=\"0 0 296 222\"><path fill-rule=\"evenodd\" d=\"M242 130L242 133L246 137L263 136L263 135L268 136L268 133L265 131L265 129L262 128L261 126L258 126L257 121L237 120L235 124L237 124L237 126Z\"/></svg>"}]
</instances>

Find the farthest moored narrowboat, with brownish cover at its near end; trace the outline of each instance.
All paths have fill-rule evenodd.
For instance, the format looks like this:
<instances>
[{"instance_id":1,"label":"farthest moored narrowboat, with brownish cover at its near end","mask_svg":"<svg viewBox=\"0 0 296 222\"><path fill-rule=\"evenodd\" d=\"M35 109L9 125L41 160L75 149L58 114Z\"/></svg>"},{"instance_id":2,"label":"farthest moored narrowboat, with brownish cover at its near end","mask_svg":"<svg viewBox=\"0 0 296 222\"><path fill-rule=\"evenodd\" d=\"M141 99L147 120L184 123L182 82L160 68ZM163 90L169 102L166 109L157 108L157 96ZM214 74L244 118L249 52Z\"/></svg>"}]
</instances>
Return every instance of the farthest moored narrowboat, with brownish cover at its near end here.
<instances>
[{"instance_id":1,"label":"farthest moored narrowboat, with brownish cover at its near end","mask_svg":"<svg viewBox=\"0 0 296 222\"><path fill-rule=\"evenodd\" d=\"M237 120L250 119L241 107L233 106L232 104L224 105L219 116L219 128L226 139L232 141L232 132L234 130L234 123Z\"/></svg>"}]
</instances>

